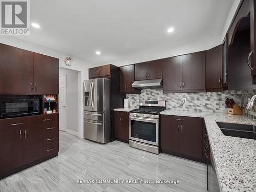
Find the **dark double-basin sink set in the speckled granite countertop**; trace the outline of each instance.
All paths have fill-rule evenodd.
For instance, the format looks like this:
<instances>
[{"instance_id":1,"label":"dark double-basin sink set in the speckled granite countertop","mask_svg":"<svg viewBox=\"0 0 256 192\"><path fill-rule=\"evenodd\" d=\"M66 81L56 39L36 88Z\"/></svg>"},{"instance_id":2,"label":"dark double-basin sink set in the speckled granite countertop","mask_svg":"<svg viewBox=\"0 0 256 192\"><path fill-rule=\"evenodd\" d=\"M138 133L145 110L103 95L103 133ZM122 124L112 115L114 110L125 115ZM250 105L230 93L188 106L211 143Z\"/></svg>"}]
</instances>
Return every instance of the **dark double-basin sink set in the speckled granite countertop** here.
<instances>
[{"instance_id":1,"label":"dark double-basin sink set in the speckled granite countertop","mask_svg":"<svg viewBox=\"0 0 256 192\"><path fill-rule=\"evenodd\" d=\"M226 136L256 139L255 125L216 122Z\"/></svg>"}]
</instances>

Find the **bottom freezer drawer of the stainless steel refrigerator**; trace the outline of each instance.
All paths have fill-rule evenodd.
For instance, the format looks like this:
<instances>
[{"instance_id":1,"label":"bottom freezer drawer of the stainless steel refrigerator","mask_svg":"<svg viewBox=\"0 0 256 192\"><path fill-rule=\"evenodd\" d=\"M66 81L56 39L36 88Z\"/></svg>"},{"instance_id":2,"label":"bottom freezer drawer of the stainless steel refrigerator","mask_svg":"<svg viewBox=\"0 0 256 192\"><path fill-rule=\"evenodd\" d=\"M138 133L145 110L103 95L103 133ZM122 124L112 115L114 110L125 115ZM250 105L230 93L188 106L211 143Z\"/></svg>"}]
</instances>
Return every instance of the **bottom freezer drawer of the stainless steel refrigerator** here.
<instances>
[{"instance_id":1,"label":"bottom freezer drawer of the stainless steel refrigerator","mask_svg":"<svg viewBox=\"0 0 256 192\"><path fill-rule=\"evenodd\" d=\"M84 119L83 126L84 138L100 143L108 142L105 137L105 122Z\"/></svg>"}]
</instances>

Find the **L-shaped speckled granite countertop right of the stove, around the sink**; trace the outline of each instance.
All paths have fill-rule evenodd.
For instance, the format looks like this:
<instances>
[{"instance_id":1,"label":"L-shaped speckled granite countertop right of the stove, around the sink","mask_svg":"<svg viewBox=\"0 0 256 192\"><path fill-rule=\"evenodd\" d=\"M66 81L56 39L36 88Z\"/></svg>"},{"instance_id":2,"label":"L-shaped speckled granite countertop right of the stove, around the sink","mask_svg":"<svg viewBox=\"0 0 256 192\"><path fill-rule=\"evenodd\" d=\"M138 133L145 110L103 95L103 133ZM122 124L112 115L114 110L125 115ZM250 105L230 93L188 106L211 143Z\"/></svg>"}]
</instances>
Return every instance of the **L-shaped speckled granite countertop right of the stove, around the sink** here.
<instances>
[{"instance_id":1,"label":"L-shaped speckled granite countertop right of the stove, around the sink","mask_svg":"<svg viewBox=\"0 0 256 192\"><path fill-rule=\"evenodd\" d=\"M202 117L205 120L214 166L222 191L256 190L256 140L223 135L217 122L256 125L243 115L165 110L161 115Z\"/></svg>"}]
</instances>

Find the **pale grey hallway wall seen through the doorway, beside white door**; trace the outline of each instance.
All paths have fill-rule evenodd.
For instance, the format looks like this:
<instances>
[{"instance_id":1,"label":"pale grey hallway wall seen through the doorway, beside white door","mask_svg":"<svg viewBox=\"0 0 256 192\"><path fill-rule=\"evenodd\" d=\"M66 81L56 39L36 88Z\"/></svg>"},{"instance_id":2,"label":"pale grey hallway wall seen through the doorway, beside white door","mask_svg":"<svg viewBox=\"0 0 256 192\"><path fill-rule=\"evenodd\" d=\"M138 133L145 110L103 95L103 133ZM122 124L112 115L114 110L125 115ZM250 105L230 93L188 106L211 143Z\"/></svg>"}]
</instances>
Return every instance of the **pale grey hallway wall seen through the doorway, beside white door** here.
<instances>
[{"instance_id":1,"label":"pale grey hallway wall seen through the doorway, beside white door","mask_svg":"<svg viewBox=\"0 0 256 192\"><path fill-rule=\"evenodd\" d=\"M66 113L67 113L67 133L78 135L78 72L66 68L59 68L59 76L67 77ZM71 131L71 132L70 132ZM76 133L74 133L76 132Z\"/></svg>"}]
</instances>

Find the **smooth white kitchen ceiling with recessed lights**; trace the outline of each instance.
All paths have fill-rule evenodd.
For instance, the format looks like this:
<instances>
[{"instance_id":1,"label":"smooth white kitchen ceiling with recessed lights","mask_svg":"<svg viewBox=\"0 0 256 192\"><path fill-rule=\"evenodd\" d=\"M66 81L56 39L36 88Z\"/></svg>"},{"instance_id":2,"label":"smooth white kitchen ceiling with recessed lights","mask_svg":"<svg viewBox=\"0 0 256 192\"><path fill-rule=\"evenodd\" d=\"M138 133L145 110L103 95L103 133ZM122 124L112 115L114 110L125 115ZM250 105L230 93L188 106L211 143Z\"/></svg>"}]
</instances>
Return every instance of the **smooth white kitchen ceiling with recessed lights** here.
<instances>
[{"instance_id":1,"label":"smooth white kitchen ceiling with recessed lights","mask_svg":"<svg viewBox=\"0 0 256 192\"><path fill-rule=\"evenodd\" d=\"M103 65L222 32L232 0L30 1L30 36L17 38ZM167 29L175 31L168 34ZM96 55L95 51L101 51Z\"/></svg>"}]
</instances>

